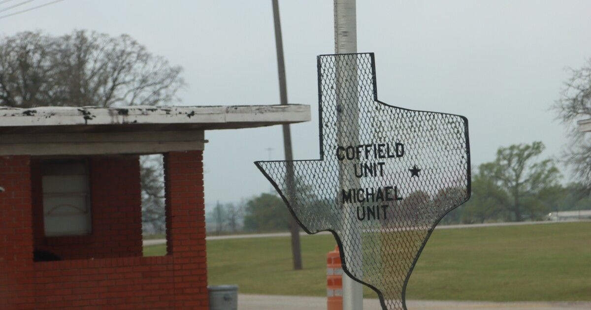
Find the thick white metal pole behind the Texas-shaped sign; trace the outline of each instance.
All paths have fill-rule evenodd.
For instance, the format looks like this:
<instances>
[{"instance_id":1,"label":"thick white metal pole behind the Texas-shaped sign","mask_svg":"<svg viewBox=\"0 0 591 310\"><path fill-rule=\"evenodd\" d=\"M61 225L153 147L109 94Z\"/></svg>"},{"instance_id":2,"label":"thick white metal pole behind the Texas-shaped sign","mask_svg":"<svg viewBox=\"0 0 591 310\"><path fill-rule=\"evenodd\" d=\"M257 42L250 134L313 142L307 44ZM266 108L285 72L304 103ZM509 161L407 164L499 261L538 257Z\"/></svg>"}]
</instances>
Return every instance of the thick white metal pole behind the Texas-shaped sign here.
<instances>
[{"instance_id":1,"label":"thick white metal pole behind the Texas-shaped sign","mask_svg":"<svg viewBox=\"0 0 591 310\"><path fill-rule=\"evenodd\" d=\"M357 18L355 0L334 0L335 1L335 53L357 53ZM355 78L356 80L356 78ZM356 105L357 103L352 103ZM357 109L356 109L357 110ZM356 121L352 123L356 124ZM343 173L343 169L340 169ZM343 175L340 175L343 178ZM343 182L340 182L343 184ZM352 187L349 187L352 188ZM345 221L355 220L345 216ZM352 223L345 223L345 227L352 227ZM355 233L350 231L350 233ZM345 249L357 249L361 251L361 244L343 244ZM357 255L351 253L350 257ZM353 258L355 259L355 258ZM349 262L355 263L355 262ZM348 264L349 264L348 263ZM343 274L343 310L363 309L363 286L361 283Z\"/></svg>"}]
</instances>

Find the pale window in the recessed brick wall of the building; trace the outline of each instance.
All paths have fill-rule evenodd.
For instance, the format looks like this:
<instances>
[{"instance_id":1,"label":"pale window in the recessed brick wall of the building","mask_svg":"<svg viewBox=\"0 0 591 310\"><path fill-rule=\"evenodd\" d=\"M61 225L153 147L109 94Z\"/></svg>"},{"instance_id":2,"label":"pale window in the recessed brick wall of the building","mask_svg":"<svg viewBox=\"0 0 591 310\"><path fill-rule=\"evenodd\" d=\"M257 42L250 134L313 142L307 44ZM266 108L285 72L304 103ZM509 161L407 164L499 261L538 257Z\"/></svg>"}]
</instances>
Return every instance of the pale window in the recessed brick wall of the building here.
<instances>
[{"instance_id":1,"label":"pale window in the recessed brick wall of the building","mask_svg":"<svg viewBox=\"0 0 591 310\"><path fill-rule=\"evenodd\" d=\"M86 161L43 164L43 222L47 237L90 234L88 165Z\"/></svg>"}]
</instances>

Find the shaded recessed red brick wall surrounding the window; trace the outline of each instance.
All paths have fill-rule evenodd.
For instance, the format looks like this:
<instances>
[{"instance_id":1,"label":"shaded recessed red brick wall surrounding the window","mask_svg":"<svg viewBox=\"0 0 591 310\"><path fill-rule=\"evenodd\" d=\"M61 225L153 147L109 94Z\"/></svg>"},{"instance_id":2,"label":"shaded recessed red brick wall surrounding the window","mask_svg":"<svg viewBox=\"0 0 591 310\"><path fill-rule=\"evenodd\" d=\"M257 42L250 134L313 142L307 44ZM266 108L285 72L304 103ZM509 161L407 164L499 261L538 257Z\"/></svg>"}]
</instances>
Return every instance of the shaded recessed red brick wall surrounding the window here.
<instances>
[{"instance_id":1,"label":"shaded recessed red brick wall surrounding the window","mask_svg":"<svg viewBox=\"0 0 591 310\"><path fill-rule=\"evenodd\" d=\"M35 249L62 259L142 255L139 156L95 156L89 159L92 234L46 237L43 228L41 160L32 161Z\"/></svg>"}]
</instances>

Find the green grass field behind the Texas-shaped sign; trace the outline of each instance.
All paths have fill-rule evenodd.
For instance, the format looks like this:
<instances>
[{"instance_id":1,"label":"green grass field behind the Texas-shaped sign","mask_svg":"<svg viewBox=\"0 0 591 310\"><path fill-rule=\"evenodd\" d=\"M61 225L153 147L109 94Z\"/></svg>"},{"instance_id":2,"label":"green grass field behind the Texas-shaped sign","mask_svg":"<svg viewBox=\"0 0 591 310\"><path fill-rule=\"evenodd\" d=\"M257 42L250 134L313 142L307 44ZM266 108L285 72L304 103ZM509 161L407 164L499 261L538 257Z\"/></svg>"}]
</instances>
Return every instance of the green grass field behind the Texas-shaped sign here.
<instances>
[{"instance_id":1,"label":"green grass field behind the Texas-shaped sign","mask_svg":"<svg viewBox=\"0 0 591 310\"><path fill-rule=\"evenodd\" d=\"M207 242L210 285L241 293L326 295L332 236L301 238L291 270L288 237ZM164 253L163 246L145 255ZM365 288L366 298L377 298ZM591 222L436 230L411 275L408 299L591 301Z\"/></svg>"}]
</instances>

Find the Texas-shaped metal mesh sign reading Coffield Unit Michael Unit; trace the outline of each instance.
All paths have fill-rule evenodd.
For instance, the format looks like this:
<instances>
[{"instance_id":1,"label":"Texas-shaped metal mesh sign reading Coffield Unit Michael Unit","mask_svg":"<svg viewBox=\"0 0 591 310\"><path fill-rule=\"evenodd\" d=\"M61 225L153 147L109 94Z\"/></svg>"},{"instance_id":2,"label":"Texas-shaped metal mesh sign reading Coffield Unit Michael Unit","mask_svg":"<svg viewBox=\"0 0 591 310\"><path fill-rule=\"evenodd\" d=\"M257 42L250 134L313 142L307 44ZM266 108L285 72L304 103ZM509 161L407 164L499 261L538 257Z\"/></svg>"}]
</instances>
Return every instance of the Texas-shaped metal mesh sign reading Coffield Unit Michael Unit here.
<instances>
[{"instance_id":1,"label":"Texas-shaped metal mesh sign reading Coffield Unit Michael Unit","mask_svg":"<svg viewBox=\"0 0 591 310\"><path fill-rule=\"evenodd\" d=\"M406 309L441 218L470 196L467 119L379 102L374 54L318 57L320 159L259 161L307 233L329 230L343 270Z\"/></svg>"}]
</instances>

